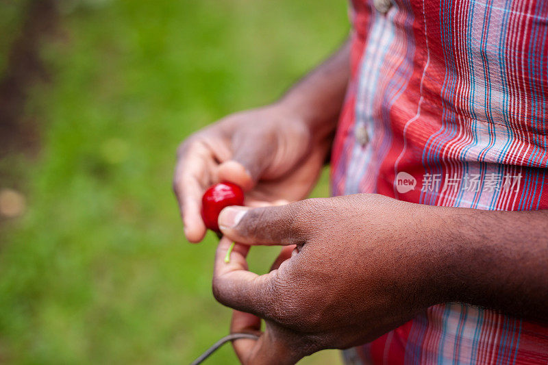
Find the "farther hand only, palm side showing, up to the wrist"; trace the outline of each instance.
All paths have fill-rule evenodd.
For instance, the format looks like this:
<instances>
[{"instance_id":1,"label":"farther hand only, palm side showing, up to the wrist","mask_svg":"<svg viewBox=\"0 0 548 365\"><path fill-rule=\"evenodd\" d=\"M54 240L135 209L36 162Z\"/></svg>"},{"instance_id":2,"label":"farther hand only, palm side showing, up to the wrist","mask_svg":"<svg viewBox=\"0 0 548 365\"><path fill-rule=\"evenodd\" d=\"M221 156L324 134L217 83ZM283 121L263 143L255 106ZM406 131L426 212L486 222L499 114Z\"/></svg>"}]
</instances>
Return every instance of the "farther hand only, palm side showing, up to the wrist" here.
<instances>
[{"instance_id":1,"label":"farther hand only, palm side showing, up to the wrist","mask_svg":"<svg viewBox=\"0 0 548 365\"><path fill-rule=\"evenodd\" d=\"M193 134L177 151L173 181L186 237L198 242L206 234L201 197L219 181L241 186L251 206L303 199L329 145L314 140L303 118L283 105L232 114Z\"/></svg>"}]
</instances>

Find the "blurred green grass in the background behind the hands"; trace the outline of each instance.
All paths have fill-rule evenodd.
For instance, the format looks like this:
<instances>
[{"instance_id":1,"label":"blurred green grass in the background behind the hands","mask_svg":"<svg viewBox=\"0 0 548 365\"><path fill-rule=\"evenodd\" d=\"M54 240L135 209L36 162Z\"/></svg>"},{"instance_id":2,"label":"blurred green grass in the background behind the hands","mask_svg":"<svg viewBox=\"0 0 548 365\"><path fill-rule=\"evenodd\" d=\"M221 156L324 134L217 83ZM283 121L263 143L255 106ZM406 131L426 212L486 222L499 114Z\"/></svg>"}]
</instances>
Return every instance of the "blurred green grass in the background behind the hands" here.
<instances>
[{"instance_id":1,"label":"blurred green grass in the background behind the hands","mask_svg":"<svg viewBox=\"0 0 548 365\"><path fill-rule=\"evenodd\" d=\"M10 12L2 29L16 28ZM186 364L227 333L230 311L210 290L216 238L182 236L177 144L279 97L345 38L347 5L64 1L60 28L41 50L53 80L26 106L39 158L2 162L22 171L28 210L0 232L0 360ZM327 194L324 173L314 196ZM253 249L251 268L273 257ZM324 351L303 363L338 359ZM232 363L229 346L208 362Z\"/></svg>"}]
</instances>

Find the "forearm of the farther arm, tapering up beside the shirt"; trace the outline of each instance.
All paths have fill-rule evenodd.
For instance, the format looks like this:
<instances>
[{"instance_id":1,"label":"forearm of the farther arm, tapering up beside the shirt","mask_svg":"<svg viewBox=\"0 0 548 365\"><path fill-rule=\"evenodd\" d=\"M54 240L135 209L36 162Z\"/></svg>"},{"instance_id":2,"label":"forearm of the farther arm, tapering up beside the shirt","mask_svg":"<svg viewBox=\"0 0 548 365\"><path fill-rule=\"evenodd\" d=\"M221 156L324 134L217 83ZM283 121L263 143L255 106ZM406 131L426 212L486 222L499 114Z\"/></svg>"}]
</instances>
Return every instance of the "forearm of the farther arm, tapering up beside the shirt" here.
<instances>
[{"instance_id":1,"label":"forearm of the farther arm, tapering up beside the shirt","mask_svg":"<svg viewBox=\"0 0 548 365\"><path fill-rule=\"evenodd\" d=\"M278 101L299 114L316 138L325 138L336 128L350 75L350 41L323 64L314 68Z\"/></svg>"}]
</instances>

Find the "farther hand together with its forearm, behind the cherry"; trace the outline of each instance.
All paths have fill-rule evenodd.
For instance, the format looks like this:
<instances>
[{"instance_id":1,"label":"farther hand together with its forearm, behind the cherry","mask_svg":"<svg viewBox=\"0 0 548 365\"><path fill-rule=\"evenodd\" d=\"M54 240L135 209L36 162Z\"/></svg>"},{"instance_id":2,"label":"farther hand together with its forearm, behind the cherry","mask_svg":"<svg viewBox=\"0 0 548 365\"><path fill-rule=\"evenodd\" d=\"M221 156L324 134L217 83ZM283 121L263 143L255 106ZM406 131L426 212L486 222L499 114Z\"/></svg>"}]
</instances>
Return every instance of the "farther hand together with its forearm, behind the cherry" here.
<instances>
[{"instance_id":1,"label":"farther hand together with its forearm, behind the cherry","mask_svg":"<svg viewBox=\"0 0 548 365\"><path fill-rule=\"evenodd\" d=\"M177 150L173 189L190 242L206 234L201 197L212 184L241 186L246 205L305 198L333 140L349 78L349 42L272 105L232 114Z\"/></svg>"}]
</instances>

